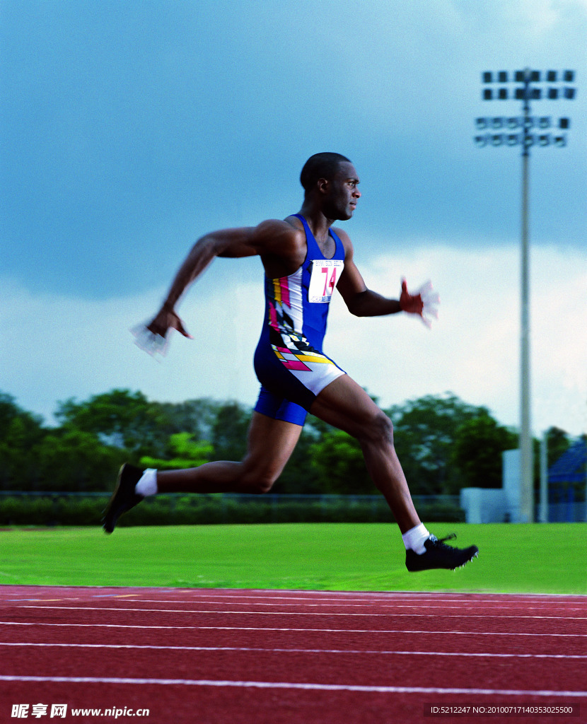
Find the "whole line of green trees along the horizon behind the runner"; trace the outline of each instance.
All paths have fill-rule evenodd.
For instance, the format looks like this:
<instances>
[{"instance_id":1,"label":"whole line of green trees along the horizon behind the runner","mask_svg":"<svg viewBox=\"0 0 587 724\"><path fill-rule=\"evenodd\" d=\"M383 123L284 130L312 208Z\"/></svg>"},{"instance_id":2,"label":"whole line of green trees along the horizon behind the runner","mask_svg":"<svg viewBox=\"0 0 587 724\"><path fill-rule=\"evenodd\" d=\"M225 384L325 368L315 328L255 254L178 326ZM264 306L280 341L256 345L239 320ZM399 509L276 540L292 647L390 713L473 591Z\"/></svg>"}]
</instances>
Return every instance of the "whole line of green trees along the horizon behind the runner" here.
<instances>
[{"instance_id":1,"label":"whole line of green trees along the horizon behind the runner","mask_svg":"<svg viewBox=\"0 0 587 724\"><path fill-rule=\"evenodd\" d=\"M47 426L0 392L0 489L104 492L127 461L187 468L240 460L251 413L232 400L160 403L142 392L111 390L82 402L58 403L58 425ZM447 393L408 400L385 413L394 424L395 447L413 494L501 487L502 452L518 447L518 433L499 424L487 408ZM552 461L571 442L556 427L548 440ZM535 459L537 483L538 454ZM376 489L355 439L308 416L273 492L374 494Z\"/></svg>"}]
</instances>

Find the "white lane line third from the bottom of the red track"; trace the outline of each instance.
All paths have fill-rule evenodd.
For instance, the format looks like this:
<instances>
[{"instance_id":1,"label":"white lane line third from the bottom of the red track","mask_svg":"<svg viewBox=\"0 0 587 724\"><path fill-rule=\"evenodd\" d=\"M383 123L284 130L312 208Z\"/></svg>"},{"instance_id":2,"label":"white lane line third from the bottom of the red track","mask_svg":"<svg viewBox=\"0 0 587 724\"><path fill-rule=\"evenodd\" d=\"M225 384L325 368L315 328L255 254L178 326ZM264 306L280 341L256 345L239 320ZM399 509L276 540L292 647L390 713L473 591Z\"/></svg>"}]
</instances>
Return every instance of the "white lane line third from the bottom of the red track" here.
<instances>
[{"instance_id":1,"label":"white lane line third from the bottom of the red track","mask_svg":"<svg viewBox=\"0 0 587 724\"><path fill-rule=\"evenodd\" d=\"M587 638L587 633L518 633L508 631L411 631L399 629L373 629L373 628L274 628L272 626L144 626L138 623L38 623L36 621L0 621L0 626L69 626L70 628L141 628L148 629L181 629L182 631L285 631L297 633L432 633L457 634L465 636L550 636L564 639Z\"/></svg>"}]
</instances>

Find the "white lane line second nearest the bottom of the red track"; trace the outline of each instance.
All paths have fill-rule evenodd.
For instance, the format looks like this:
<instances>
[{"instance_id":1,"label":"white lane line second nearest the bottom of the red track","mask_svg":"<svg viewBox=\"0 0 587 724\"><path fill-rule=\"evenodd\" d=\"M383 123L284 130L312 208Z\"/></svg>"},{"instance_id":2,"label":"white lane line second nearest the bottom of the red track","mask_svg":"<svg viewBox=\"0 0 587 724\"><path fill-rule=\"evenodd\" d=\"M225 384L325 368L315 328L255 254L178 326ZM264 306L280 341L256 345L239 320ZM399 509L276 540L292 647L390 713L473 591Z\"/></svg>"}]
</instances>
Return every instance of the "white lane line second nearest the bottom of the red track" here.
<instances>
[{"instance_id":1,"label":"white lane line second nearest the bottom of the red track","mask_svg":"<svg viewBox=\"0 0 587 724\"><path fill-rule=\"evenodd\" d=\"M369 654L376 656L455 656L481 657L498 659L587 659L587 654L490 654L447 651L376 651L373 649L264 649L259 647L240 646L154 646L153 644L33 644L30 641L0 641L0 647L58 647L64 649L154 649L156 651L239 651L269 654Z\"/></svg>"}]
</instances>

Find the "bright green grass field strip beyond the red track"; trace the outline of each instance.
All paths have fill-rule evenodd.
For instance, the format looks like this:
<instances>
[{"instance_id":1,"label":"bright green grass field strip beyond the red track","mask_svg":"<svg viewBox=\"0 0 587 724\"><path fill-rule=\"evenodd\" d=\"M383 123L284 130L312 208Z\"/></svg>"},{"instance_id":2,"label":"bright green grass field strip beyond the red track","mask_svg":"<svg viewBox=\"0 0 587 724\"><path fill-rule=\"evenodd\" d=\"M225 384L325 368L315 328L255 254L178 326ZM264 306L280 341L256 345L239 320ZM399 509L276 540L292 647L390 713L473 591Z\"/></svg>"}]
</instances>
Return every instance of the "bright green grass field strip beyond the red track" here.
<instances>
[{"instance_id":1,"label":"bright green grass field strip beyond the red track","mask_svg":"<svg viewBox=\"0 0 587 724\"><path fill-rule=\"evenodd\" d=\"M478 559L457 571L407 573L395 526L282 523L117 529L4 529L0 584L182 586L351 591L587 593L587 524L479 526L455 531Z\"/></svg>"}]
</instances>

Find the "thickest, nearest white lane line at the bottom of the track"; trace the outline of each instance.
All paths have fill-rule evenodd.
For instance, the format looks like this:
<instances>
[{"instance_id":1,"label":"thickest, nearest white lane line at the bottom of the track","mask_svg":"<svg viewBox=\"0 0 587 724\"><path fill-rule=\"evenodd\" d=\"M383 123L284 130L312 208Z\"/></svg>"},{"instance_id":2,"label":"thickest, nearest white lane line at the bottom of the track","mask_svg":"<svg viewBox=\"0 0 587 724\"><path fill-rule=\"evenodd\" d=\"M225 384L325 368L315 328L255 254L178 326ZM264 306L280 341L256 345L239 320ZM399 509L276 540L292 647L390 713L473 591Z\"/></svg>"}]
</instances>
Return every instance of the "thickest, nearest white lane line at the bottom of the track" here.
<instances>
[{"instance_id":1,"label":"thickest, nearest white lane line at the bottom of the track","mask_svg":"<svg viewBox=\"0 0 587 724\"><path fill-rule=\"evenodd\" d=\"M107 678L99 676L10 676L0 681L51 683L161 684L163 686L236 686L242 689L305 689L309 691L362 691L367 694L473 694L488 696L584 697L587 691L545 691L532 689L442 689L438 686L361 686L343 683L297 683L290 681L217 681L208 679Z\"/></svg>"}]
</instances>

